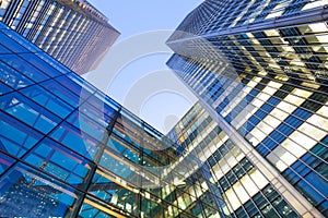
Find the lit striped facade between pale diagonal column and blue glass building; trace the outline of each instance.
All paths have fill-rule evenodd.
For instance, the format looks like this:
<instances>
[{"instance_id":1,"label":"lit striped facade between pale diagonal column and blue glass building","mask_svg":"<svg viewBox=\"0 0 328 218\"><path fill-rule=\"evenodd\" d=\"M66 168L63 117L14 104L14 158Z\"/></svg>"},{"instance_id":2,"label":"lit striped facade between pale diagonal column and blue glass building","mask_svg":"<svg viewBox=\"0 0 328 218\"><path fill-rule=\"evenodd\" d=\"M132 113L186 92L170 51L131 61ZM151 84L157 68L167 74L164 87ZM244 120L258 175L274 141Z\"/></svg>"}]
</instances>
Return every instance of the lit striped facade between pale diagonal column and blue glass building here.
<instances>
[{"instance_id":1,"label":"lit striped facade between pale diagonal column and blue glass building","mask_svg":"<svg viewBox=\"0 0 328 218\"><path fill-rule=\"evenodd\" d=\"M220 201L222 217L298 217L273 181L232 142L199 104L168 133L178 150L192 153Z\"/></svg>"}]
</instances>

